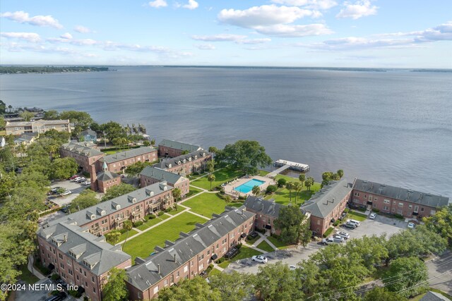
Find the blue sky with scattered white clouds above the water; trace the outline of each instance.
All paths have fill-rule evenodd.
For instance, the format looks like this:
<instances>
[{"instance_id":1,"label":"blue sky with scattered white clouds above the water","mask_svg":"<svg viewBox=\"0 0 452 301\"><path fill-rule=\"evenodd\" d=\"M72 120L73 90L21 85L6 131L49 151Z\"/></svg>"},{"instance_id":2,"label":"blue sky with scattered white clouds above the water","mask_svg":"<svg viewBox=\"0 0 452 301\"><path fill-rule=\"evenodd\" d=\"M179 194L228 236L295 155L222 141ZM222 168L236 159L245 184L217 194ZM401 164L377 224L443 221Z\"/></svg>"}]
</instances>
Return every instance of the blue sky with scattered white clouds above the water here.
<instances>
[{"instance_id":1,"label":"blue sky with scattered white clouds above the water","mask_svg":"<svg viewBox=\"0 0 452 301\"><path fill-rule=\"evenodd\" d=\"M452 68L451 0L1 0L0 63Z\"/></svg>"}]
</instances>

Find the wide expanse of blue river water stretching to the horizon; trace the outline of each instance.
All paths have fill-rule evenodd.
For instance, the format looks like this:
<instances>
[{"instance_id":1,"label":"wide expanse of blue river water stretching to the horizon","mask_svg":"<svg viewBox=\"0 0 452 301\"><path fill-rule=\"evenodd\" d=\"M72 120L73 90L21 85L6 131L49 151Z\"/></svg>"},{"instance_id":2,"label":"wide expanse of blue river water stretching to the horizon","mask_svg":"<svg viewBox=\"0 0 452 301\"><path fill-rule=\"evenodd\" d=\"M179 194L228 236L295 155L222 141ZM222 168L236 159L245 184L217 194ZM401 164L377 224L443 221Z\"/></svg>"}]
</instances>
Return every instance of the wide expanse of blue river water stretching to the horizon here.
<instances>
[{"instance_id":1,"label":"wide expanse of blue river water stretching to the horizon","mask_svg":"<svg viewBox=\"0 0 452 301\"><path fill-rule=\"evenodd\" d=\"M280 68L114 67L0 75L13 106L83 110L99 123L224 147L258 140L308 176L355 177L452 197L452 73Z\"/></svg>"}]
</instances>

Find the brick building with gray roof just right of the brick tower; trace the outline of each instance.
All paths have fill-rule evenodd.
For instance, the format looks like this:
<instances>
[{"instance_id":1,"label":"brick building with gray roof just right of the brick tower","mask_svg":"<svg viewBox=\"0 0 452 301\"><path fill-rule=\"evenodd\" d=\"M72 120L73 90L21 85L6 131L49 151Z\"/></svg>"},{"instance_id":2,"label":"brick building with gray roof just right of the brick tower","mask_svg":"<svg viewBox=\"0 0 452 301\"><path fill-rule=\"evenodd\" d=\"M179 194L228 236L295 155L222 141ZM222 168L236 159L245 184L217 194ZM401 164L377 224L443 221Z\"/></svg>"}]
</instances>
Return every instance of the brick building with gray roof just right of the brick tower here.
<instances>
[{"instance_id":1,"label":"brick building with gray roof just right of the brick tower","mask_svg":"<svg viewBox=\"0 0 452 301\"><path fill-rule=\"evenodd\" d=\"M127 166L140 161L157 161L157 149L153 147L138 147L136 149L128 149L124 152L103 156L97 161L96 171L102 170L104 162L107 164L108 171L118 173L119 171L123 171Z\"/></svg>"}]
</instances>

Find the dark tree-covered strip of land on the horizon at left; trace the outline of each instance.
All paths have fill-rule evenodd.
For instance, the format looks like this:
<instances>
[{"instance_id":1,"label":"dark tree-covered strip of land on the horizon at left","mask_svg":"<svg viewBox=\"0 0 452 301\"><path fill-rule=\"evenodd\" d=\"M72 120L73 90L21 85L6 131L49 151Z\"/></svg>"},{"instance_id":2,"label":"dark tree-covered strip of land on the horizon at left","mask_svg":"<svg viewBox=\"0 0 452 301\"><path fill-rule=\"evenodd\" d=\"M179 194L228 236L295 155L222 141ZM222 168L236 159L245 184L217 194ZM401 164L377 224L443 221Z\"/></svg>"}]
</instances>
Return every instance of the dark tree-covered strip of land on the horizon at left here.
<instances>
[{"instance_id":1,"label":"dark tree-covered strip of land on the horizon at left","mask_svg":"<svg viewBox=\"0 0 452 301\"><path fill-rule=\"evenodd\" d=\"M91 66L0 66L0 74L95 72L108 70L108 67Z\"/></svg>"}]
</instances>

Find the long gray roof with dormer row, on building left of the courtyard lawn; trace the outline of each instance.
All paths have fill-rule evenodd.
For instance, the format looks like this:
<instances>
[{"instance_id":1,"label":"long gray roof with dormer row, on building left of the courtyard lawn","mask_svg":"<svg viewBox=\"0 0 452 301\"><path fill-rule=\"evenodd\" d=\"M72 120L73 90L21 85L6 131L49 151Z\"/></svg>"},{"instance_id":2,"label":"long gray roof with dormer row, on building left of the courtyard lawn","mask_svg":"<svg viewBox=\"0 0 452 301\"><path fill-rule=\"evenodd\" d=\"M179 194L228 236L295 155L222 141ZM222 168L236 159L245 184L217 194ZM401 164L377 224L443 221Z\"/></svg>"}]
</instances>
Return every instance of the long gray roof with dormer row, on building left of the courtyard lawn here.
<instances>
[{"instance_id":1,"label":"long gray roof with dormer row, on building left of the courtyard lawn","mask_svg":"<svg viewBox=\"0 0 452 301\"><path fill-rule=\"evenodd\" d=\"M143 201L144 199L150 198L150 192L153 192L155 197L157 195L160 195L160 193L171 189L172 186L167 185L166 182L155 183L146 186L145 188L140 188L138 190L129 192L126 195L121 195L119 197L115 197L114 199L100 202L99 204L95 204L94 206L85 208L81 211L74 212L73 214L63 216L61 219L51 221L49 224L58 223L60 221L71 221L71 223L76 223L78 226L82 226L85 223L92 221L92 219L90 218L91 214L95 214L95 219L99 219L102 216L102 210L105 210L104 215L113 214L115 211L133 206L135 204L131 200L133 198L136 198L136 203L138 203ZM116 209L117 205L119 205L121 208Z\"/></svg>"}]
</instances>

